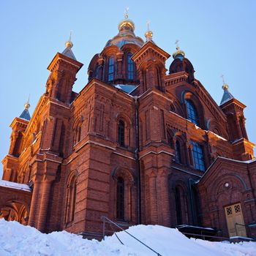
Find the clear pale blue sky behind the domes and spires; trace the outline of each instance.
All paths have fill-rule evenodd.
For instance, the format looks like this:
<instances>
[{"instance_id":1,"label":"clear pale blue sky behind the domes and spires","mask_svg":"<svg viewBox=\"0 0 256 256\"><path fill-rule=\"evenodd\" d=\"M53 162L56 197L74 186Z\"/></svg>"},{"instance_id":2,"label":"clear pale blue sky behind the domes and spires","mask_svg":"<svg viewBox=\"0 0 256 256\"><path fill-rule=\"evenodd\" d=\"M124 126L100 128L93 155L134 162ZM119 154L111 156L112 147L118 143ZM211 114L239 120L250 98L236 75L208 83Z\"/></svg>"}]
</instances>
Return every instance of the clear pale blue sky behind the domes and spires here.
<instances>
[{"instance_id":1,"label":"clear pale blue sky behind the domes and spires","mask_svg":"<svg viewBox=\"0 0 256 256\"><path fill-rule=\"evenodd\" d=\"M160 48L173 53L174 42L180 40L195 77L218 104L223 94L220 75L225 75L230 92L247 106L246 129L249 140L256 143L256 1L9 0L0 3L0 159L8 152L12 119L23 111L29 94L33 113L45 92L48 64L64 50L69 31L73 31L72 50L84 64L74 86L79 92L87 83L89 61L118 33L125 7L136 35L144 39L150 20ZM2 167L0 176L1 171Z\"/></svg>"}]
</instances>

